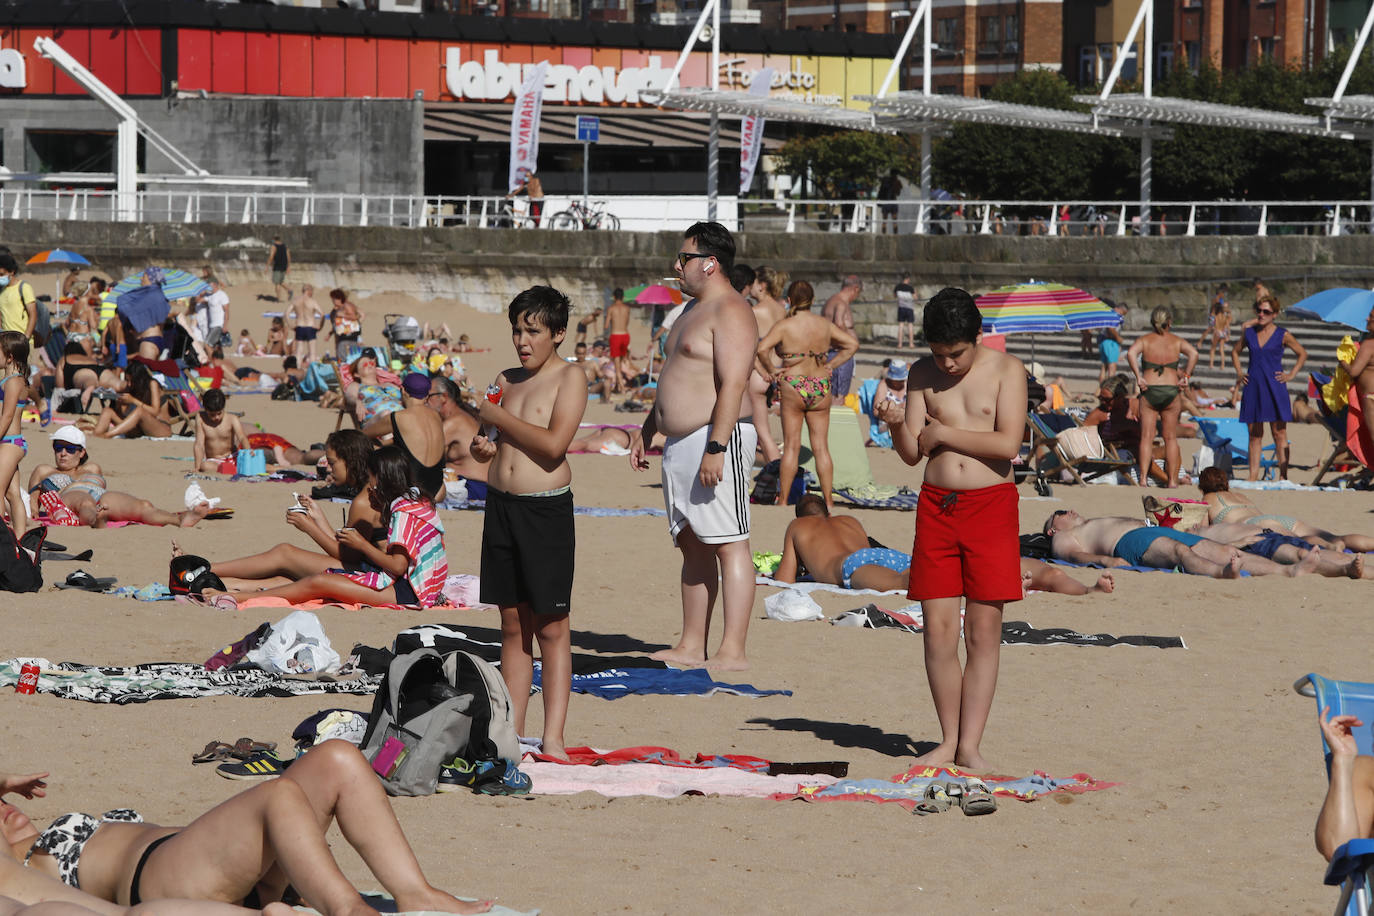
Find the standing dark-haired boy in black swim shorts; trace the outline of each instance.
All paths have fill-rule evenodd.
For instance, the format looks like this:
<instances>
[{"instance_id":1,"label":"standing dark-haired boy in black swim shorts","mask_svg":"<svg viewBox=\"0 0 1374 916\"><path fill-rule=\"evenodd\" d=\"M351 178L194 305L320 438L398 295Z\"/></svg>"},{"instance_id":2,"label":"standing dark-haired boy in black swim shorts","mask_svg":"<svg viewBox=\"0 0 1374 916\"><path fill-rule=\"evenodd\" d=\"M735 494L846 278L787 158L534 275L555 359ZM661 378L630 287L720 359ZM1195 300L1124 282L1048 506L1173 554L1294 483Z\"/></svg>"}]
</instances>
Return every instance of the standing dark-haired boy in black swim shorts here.
<instances>
[{"instance_id":1,"label":"standing dark-haired boy in black swim shorts","mask_svg":"<svg viewBox=\"0 0 1374 916\"><path fill-rule=\"evenodd\" d=\"M519 365L486 389L470 453L491 461L482 527L481 597L502 608L502 677L511 692L515 731L534 678L533 641L543 665L544 746L566 758L563 724L572 694L573 648L567 612L573 592L573 471L567 446L587 409L581 368L558 356L567 334L567 297L552 287L525 290L510 305Z\"/></svg>"}]
</instances>

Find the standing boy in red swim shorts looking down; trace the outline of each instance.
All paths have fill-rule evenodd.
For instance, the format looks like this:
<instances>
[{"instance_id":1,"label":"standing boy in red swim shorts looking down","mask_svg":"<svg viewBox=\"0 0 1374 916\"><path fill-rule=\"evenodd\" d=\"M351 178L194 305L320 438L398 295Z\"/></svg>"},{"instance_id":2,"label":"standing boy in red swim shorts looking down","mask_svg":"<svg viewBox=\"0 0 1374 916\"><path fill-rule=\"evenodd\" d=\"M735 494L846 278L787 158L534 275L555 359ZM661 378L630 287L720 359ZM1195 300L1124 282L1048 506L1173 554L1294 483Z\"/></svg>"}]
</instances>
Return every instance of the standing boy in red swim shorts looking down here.
<instances>
[{"instance_id":1,"label":"standing boy in red swim shorts looking down","mask_svg":"<svg viewBox=\"0 0 1374 916\"><path fill-rule=\"evenodd\" d=\"M1017 488L1026 371L982 346L982 314L963 290L926 305L932 356L911 367L907 404L885 401L878 417L907 464L926 463L911 548L911 586L925 614L926 680L940 744L918 764L987 769L980 751L998 685L1002 606L1020 600ZM959 667L959 599L965 599L967 667Z\"/></svg>"}]
</instances>

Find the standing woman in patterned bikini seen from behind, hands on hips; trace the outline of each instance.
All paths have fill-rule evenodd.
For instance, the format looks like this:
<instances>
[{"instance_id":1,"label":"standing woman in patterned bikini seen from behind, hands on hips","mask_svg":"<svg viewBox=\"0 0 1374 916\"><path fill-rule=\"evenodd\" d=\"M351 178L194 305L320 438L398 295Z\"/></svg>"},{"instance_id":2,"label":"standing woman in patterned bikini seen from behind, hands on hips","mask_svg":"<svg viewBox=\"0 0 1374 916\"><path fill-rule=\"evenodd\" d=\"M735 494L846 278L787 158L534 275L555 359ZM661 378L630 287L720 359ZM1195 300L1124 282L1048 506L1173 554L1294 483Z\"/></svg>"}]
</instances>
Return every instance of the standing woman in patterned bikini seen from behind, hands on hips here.
<instances>
[{"instance_id":1,"label":"standing woman in patterned bikini seen from behind, hands on hips","mask_svg":"<svg viewBox=\"0 0 1374 916\"><path fill-rule=\"evenodd\" d=\"M782 396L782 466L778 471L779 505L787 504L791 481L801 456L801 424L805 422L811 450L816 456L816 477L826 508L834 509L830 492L834 461L830 459L830 371L844 365L859 350L859 339L830 319L812 314L815 290L805 280L787 287L787 317L778 321L758 342L758 371L778 382ZM834 353L827 358L829 353ZM774 367L774 354L782 360Z\"/></svg>"}]
</instances>

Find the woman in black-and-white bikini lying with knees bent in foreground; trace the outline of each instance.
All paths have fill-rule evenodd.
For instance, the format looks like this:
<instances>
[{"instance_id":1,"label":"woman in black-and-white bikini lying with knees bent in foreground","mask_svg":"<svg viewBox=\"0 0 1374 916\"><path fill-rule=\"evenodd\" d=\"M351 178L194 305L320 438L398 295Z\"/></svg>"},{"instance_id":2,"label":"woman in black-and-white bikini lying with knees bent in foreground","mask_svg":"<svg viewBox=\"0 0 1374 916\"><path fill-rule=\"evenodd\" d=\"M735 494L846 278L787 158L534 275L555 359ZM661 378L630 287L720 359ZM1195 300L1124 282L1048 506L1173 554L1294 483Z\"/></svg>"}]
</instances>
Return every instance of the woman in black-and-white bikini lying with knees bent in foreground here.
<instances>
[{"instance_id":1,"label":"woman in black-and-white bikini lying with knees bent in foreground","mask_svg":"<svg viewBox=\"0 0 1374 916\"><path fill-rule=\"evenodd\" d=\"M118 904L181 897L260 906L282 900L290 887L326 916L375 913L339 871L324 839L338 820L401 911L491 909L491 901L464 904L425 879L376 773L357 747L342 740L313 747L278 779L235 795L187 827L144 824L122 810L115 820L63 814L38 831L12 805L0 803L0 835L15 858Z\"/></svg>"}]
</instances>

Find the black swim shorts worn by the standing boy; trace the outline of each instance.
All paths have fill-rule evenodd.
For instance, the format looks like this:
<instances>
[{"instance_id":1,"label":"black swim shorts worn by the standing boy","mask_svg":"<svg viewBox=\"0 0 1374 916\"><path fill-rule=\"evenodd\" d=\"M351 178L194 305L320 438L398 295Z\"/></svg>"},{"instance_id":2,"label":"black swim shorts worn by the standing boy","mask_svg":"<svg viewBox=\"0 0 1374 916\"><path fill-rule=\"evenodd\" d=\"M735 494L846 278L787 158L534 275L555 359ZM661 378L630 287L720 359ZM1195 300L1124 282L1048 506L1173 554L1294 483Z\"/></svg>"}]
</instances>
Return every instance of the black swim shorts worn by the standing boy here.
<instances>
[{"instance_id":1,"label":"black swim shorts worn by the standing boy","mask_svg":"<svg viewBox=\"0 0 1374 916\"><path fill-rule=\"evenodd\" d=\"M567 614L573 596L573 494L513 496L486 488L484 604Z\"/></svg>"}]
</instances>

